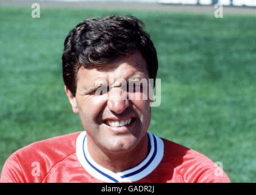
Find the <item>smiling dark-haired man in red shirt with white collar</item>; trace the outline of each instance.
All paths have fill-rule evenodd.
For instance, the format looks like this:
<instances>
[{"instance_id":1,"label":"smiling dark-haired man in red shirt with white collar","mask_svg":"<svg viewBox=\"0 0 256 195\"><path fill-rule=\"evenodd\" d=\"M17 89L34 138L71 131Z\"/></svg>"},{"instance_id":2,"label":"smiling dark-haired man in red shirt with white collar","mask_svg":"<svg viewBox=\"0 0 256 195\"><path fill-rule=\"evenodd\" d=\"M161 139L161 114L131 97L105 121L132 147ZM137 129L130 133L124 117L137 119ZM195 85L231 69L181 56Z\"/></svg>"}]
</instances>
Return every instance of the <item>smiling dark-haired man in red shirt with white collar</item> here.
<instances>
[{"instance_id":1,"label":"smiling dark-haired man in red shirt with white collar","mask_svg":"<svg viewBox=\"0 0 256 195\"><path fill-rule=\"evenodd\" d=\"M63 80L84 131L16 151L1 182L230 182L204 155L148 132L151 99L141 80L156 79L158 62L142 26L113 15L69 32Z\"/></svg>"}]
</instances>

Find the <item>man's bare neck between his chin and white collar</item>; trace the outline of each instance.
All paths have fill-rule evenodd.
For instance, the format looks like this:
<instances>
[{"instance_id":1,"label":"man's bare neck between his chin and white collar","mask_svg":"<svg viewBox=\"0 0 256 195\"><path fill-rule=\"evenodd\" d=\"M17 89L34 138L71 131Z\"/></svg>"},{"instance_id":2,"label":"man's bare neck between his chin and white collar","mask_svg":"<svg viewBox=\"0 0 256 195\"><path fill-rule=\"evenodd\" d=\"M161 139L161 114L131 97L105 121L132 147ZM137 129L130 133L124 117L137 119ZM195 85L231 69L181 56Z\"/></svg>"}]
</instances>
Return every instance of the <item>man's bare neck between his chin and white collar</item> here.
<instances>
[{"instance_id":1,"label":"man's bare neck between his chin and white collar","mask_svg":"<svg viewBox=\"0 0 256 195\"><path fill-rule=\"evenodd\" d=\"M91 158L98 163L98 165L112 172L121 172L133 168L141 163L146 158L150 150L149 139L146 134L140 143L131 151L125 152L111 152L104 151L96 146L90 137L87 137L88 152Z\"/></svg>"}]
</instances>

